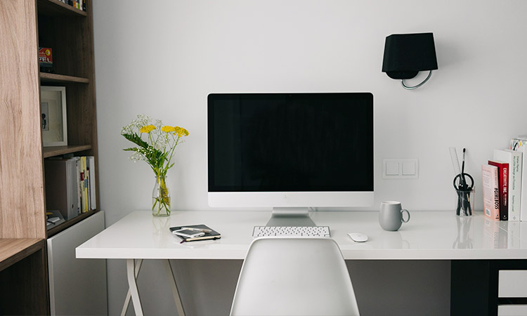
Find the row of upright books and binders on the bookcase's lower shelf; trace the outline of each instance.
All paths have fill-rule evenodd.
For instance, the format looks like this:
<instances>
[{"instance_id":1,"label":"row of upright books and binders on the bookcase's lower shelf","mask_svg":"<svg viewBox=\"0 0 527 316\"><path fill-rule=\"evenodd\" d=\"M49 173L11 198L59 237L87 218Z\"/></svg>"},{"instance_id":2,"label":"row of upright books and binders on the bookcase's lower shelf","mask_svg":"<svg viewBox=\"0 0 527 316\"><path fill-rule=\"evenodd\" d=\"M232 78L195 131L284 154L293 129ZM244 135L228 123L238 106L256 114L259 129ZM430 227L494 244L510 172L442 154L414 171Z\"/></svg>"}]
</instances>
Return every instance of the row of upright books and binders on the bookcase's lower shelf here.
<instances>
[{"instance_id":1,"label":"row of upright books and binders on the bookcase's lower shelf","mask_svg":"<svg viewBox=\"0 0 527 316\"><path fill-rule=\"evenodd\" d=\"M93 156L45 159L46 208L66 220L97 208Z\"/></svg>"}]
</instances>

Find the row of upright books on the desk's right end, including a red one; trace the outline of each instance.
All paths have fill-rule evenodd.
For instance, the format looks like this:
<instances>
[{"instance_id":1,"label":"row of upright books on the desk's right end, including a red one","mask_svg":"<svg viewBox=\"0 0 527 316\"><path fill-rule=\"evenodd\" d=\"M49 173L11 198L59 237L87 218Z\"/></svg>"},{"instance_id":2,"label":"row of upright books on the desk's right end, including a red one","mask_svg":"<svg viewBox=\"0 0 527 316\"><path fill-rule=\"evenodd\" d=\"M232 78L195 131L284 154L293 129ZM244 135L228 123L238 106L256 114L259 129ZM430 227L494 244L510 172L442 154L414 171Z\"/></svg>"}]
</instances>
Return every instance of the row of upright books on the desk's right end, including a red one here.
<instances>
[{"instance_id":1,"label":"row of upright books on the desk's right end, including a red one","mask_svg":"<svg viewBox=\"0 0 527 316\"><path fill-rule=\"evenodd\" d=\"M481 167L483 207L488 218L527 220L526 148L527 136L512 138L508 149L494 150L493 159Z\"/></svg>"}]
</instances>

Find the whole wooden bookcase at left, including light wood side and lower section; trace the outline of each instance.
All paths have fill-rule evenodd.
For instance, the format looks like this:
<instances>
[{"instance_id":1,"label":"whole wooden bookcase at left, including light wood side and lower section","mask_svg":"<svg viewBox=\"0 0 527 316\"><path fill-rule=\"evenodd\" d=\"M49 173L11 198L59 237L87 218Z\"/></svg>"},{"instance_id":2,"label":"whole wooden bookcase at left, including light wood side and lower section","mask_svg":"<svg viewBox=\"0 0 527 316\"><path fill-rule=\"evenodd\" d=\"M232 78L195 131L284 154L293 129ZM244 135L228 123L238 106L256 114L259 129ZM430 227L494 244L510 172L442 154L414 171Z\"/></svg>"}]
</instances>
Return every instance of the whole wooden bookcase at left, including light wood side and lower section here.
<instances>
[{"instance_id":1,"label":"whole wooden bookcase at left, including light wood side and lower section","mask_svg":"<svg viewBox=\"0 0 527 316\"><path fill-rule=\"evenodd\" d=\"M46 230L44 159L93 156L98 172L92 4L0 1L0 183L8 183L0 190L1 314L50 314L46 238L98 211ZM53 49L53 73L39 72L39 47ZM42 146L41 85L66 88L67 146Z\"/></svg>"}]
</instances>

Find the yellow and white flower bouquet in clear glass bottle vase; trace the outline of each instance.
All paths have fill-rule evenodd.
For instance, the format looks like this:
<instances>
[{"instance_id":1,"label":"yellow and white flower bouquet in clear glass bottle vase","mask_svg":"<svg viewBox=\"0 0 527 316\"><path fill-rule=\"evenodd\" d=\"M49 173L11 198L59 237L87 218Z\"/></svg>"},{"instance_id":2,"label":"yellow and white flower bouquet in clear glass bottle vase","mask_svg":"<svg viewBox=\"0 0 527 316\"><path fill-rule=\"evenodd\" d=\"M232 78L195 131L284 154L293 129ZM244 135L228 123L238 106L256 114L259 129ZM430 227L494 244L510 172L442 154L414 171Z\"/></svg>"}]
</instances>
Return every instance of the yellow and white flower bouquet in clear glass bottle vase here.
<instances>
[{"instance_id":1,"label":"yellow and white flower bouquet in clear glass bottle vase","mask_svg":"<svg viewBox=\"0 0 527 316\"><path fill-rule=\"evenodd\" d=\"M170 215L170 193L167 187L167 171L174 166L171 162L176 146L188 136L188 131L179 126L163 125L160 119L152 124L150 117L139 114L121 130L121 135L136 147L125 148L133 152L130 159L134 162L145 161L155 174L155 186L152 192L152 215ZM145 139L143 139L143 137Z\"/></svg>"}]
</instances>

